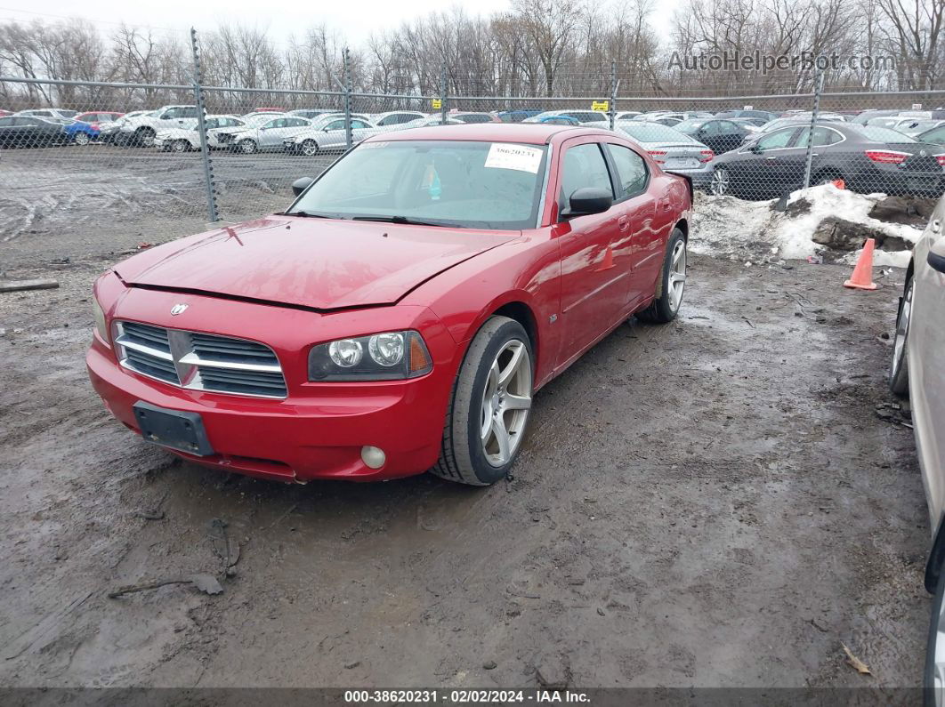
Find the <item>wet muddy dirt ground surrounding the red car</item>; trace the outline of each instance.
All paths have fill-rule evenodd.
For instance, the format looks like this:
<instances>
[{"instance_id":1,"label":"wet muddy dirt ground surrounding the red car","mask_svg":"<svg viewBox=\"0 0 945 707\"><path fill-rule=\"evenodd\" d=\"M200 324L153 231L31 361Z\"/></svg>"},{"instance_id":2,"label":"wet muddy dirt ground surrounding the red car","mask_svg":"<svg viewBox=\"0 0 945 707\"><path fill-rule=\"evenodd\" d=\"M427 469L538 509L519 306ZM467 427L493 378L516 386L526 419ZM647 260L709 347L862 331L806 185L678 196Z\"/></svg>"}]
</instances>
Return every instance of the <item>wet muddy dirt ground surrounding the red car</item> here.
<instances>
[{"instance_id":1,"label":"wet muddy dirt ground surrounding the red car","mask_svg":"<svg viewBox=\"0 0 945 707\"><path fill-rule=\"evenodd\" d=\"M927 512L883 407L901 271L859 293L848 266L694 257L679 320L627 324L541 391L513 479L283 486L147 445L86 379L93 279L200 225L191 157L117 180L50 157L55 183L0 161L0 270L61 284L0 295L0 685L919 684ZM219 163L304 173L247 160ZM79 187L108 199L13 233ZM107 597L196 572L225 591Z\"/></svg>"}]
</instances>

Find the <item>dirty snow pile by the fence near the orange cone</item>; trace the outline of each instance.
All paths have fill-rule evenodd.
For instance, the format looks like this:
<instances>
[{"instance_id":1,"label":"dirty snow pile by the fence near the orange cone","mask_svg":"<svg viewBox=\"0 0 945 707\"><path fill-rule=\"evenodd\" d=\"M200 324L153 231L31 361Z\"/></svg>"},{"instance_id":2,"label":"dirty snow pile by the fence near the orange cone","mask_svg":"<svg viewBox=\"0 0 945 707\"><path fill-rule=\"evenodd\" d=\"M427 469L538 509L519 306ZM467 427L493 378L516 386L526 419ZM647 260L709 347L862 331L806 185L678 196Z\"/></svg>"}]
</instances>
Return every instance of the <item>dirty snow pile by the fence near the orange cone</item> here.
<instances>
[{"instance_id":1,"label":"dirty snow pile by the fence near the orange cone","mask_svg":"<svg viewBox=\"0 0 945 707\"><path fill-rule=\"evenodd\" d=\"M802 260L827 255L833 261L852 263L859 255L859 246L855 250L831 251L829 245L814 240L818 228L842 220L845 227L862 227L878 237L878 242L888 239L877 247L875 264L905 267L912 244L921 236L919 228L869 215L885 194L854 194L833 184L794 192L783 211L775 210L777 199L742 201L732 196L700 196L694 208L692 250L732 260Z\"/></svg>"}]
</instances>

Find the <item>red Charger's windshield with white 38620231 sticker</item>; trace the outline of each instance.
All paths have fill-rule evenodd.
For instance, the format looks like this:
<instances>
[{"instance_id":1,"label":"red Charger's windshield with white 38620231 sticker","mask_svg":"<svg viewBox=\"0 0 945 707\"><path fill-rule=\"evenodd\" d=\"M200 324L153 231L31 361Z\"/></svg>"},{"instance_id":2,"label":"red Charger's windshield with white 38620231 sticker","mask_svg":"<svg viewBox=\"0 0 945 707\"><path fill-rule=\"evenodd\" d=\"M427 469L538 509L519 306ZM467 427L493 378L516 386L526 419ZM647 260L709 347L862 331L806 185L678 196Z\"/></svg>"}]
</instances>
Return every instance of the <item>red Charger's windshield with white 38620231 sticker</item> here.
<instances>
[{"instance_id":1,"label":"red Charger's windshield with white 38620231 sticker","mask_svg":"<svg viewBox=\"0 0 945 707\"><path fill-rule=\"evenodd\" d=\"M365 143L318 177L288 213L531 228L546 152L515 143Z\"/></svg>"}]
</instances>

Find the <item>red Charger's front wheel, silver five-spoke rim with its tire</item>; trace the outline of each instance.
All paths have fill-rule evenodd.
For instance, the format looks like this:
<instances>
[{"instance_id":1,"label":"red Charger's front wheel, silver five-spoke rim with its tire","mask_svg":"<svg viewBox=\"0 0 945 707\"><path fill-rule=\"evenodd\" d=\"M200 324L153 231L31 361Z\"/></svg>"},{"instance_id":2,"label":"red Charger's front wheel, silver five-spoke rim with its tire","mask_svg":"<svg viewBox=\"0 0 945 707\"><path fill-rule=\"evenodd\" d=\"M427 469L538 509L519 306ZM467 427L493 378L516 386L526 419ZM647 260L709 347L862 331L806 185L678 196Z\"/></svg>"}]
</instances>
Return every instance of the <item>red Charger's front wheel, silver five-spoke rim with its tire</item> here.
<instances>
[{"instance_id":1,"label":"red Charger's front wheel, silver five-spoke rim with its tire","mask_svg":"<svg viewBox=\"0 0 945 707\"><path fill-rule=\"evenodd\" d=\"M493 316L472 339L446 412L443 479L488 486L515 462L532 402L532 347L521 324Z\"/></svg>"}]
</instances>

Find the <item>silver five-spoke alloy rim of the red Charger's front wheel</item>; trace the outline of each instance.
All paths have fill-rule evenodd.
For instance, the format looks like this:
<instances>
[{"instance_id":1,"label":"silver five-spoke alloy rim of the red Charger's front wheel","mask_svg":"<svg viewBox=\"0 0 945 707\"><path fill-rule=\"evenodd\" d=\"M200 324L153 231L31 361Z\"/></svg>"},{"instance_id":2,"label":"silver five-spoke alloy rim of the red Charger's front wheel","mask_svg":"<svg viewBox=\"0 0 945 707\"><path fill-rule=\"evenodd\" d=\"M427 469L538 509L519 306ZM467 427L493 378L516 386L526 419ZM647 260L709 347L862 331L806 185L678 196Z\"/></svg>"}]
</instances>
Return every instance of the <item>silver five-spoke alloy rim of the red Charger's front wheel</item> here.
<instances>
[{"instance_id":1,"label":"silver five-spoke alloy rim of the red Charger's front wheel","mask_svg":"<svg viewBox=\"0 0 945 707\"><path fill-rule=\"evenodd\" d=\"M495 357L482 395L479 439L492 466L503 466L522 442L531 409L531 357L523 342L509 341Z\"/></svg>"}]
</instances>

